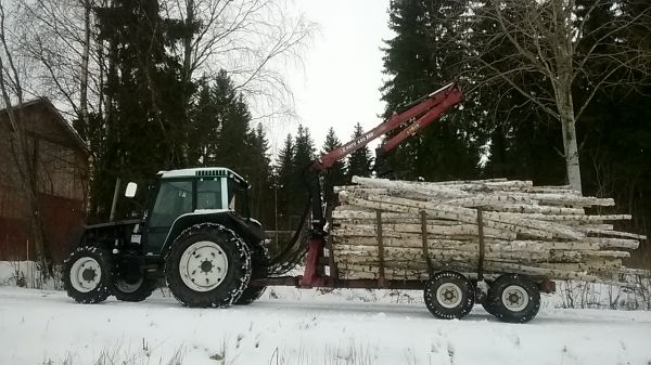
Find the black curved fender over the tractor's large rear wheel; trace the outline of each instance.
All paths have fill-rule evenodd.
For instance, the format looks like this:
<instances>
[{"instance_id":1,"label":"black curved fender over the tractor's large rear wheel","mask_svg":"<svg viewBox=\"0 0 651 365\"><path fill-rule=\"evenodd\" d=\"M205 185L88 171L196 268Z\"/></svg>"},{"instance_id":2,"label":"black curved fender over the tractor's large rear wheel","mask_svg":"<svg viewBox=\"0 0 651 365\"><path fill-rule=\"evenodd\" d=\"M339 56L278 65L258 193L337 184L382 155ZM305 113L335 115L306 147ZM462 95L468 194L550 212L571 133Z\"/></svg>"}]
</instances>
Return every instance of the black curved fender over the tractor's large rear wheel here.
<instances>
[{"instance_id":1,"label":"black curved fender over the tractor's large rear wheel","mask_svg":"<svg viewBox=\"0 0 651 365\"><path fill-rule=\"evenodd\" d=\"M167 234L167 238L165 239L165 244L163 244L161 256L167 256L175 238L181 234L181 232L192 225L201 223L221 224L234 231L244 239L250 248L266 238L265 231L255 220L247 221L246 219L240 218L231 210L197 210L182 214L174 221L169 229L169 233Z\"/></svg>"}]
</instances>

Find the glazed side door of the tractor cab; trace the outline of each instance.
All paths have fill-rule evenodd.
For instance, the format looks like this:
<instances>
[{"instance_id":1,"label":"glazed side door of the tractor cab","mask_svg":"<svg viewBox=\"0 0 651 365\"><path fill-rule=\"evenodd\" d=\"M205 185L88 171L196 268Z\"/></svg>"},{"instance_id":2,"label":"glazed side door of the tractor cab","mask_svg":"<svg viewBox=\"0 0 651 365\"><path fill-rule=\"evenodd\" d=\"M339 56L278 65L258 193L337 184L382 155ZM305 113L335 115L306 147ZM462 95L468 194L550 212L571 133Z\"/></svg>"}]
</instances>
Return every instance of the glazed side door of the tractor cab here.
<instances>
[{"instance_id":1,"label":"glazed side door of the tractor cab","mask_svg":"<svg viewBox=\"0 0 651 365\"><path fill-rule=\"evenodd\" d=\"M158 255L174 221L193 211L192 180L163 180L146 221L145 253Z\"/></svg>"}]
</instances>

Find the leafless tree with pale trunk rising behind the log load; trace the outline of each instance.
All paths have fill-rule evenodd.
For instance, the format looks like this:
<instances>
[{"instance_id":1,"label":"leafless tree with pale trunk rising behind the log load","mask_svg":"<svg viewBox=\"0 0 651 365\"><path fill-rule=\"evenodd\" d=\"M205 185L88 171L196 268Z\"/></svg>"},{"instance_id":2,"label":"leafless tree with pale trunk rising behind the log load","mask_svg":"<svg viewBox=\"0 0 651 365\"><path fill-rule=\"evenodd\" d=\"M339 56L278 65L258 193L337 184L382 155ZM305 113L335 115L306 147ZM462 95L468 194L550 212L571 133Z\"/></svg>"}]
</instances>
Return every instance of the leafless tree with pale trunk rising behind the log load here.
<instances>
[{"instance_id":1,"label":"leafless tree with pale trunk rising behind the log load","mask_svg":"<svg viewBox=\"0 0 651 365\"><path fill-rule=\"evenodd\" d=\"M484 23L475 57L482 86L505 86L561 122L567 181L580 192L576 123L598 93L649 83L650 41L633 30L651 25L651 8L635 0L488 0L471 13ZM597 14L608 22L596 25Z\"/></svg>"}]
</instances>

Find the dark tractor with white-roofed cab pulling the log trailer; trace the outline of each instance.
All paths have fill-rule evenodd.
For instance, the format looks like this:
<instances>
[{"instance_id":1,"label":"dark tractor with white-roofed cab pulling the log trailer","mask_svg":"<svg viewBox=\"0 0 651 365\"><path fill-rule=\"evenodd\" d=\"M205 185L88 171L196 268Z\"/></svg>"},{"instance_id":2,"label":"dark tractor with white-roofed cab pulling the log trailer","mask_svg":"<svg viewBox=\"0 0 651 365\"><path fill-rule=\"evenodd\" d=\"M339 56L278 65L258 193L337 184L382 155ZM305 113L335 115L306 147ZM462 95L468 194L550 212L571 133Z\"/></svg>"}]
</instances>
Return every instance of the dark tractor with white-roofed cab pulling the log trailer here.
<instances>
[{"instance_id":1,"label":"dark tractor with white-roofed cab pulling the log trailer","mask_svg":"<svg viewBox=\"0 0 651 365\"><path fill-rule=\"evenodd\" d=\"M64 262L64 287L81 303L113 295L142 301L165 278L187 307L248 304L265 287L265 232L248 217L248 183L227 168L162 171L140 219L89 225ZM132 198L138 185L129 183Z\"/></svg>"}]
</instances>

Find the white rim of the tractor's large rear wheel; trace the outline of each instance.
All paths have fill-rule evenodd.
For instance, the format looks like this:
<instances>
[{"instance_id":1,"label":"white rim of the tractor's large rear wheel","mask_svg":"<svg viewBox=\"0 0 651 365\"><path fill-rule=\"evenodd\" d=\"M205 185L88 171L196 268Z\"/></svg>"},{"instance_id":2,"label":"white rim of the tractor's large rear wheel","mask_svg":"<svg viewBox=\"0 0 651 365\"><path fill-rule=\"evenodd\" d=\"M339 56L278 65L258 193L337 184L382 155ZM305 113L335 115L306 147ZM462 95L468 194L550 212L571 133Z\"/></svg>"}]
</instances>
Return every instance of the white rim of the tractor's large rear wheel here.
<instances>
[{"instance_id":1,"label":"white rim of the tractor's large rear wheel","mask_svg":"<svg viewBox=\"0 0 651 365\"><path fill-rule=\"evenodd\" d=\"M228 272L226 252L214 242L201 240L183 251L179 262L181 279L194 291L218 287Z\"/></svg>"}]
</instances>

